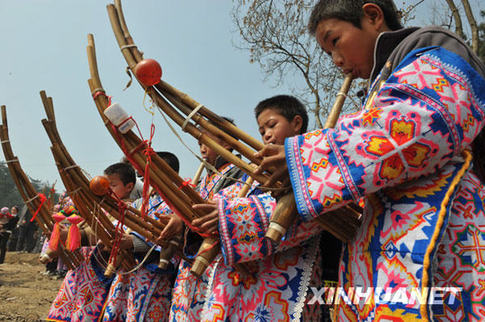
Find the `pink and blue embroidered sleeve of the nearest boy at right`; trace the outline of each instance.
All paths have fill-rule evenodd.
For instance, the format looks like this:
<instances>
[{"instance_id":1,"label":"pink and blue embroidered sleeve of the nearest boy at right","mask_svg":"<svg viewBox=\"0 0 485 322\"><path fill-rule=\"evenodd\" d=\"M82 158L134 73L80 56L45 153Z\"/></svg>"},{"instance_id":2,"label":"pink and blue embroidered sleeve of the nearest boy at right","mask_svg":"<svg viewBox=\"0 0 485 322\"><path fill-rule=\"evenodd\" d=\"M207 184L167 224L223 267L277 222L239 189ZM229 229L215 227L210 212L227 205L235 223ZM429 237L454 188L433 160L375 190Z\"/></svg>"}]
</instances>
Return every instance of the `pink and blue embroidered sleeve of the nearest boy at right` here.
<instances>
[{"instance_id":1,"label":"pink and blue embroidered sleeve of the nearest boy at right","mask_svg":"<svg viewBox=\"0 0 485 322\"><path fill-rule=\"evenodd\" d=\"M361 112L342 117L335 129L287 139L288 169L305 221L460 160L485 112L470 80L443 64L441 51L407 58L375 85L377 95Z\"/></svg>"}]
</instances>

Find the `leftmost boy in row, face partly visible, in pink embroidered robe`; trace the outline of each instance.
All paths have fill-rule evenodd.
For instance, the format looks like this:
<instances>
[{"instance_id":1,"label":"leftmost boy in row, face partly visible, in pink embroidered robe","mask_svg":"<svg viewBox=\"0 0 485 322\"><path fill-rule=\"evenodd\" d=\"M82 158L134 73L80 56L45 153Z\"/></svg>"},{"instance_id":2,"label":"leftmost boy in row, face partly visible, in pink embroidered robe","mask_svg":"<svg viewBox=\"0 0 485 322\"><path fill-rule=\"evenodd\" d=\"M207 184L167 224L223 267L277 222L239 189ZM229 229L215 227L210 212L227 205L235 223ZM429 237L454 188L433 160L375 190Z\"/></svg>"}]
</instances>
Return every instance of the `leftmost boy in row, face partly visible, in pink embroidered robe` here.
<instances>
[{"instance_id":1,"label":"leftmost boy in row, face partly visible, in pink embroidered robe","mask_svg":"<svg viewBox=\"0 0 485 322\"><path fill-rule=\"evenodd\" d=\"M115 163L104 170L111 190L118 198L128 201L135 183L135 170L129 164ZM72 204L70 198L67 203ZM98 321L113 281L104 276L104 263L109 253L99 247L90 246L96 242L91 228L82 232L83 246L80 249L86 259L78 267L67 272L59 293L48 313L48 321ZM67 231L65 232L67 233Z\"/></svg>"}]
</instances>

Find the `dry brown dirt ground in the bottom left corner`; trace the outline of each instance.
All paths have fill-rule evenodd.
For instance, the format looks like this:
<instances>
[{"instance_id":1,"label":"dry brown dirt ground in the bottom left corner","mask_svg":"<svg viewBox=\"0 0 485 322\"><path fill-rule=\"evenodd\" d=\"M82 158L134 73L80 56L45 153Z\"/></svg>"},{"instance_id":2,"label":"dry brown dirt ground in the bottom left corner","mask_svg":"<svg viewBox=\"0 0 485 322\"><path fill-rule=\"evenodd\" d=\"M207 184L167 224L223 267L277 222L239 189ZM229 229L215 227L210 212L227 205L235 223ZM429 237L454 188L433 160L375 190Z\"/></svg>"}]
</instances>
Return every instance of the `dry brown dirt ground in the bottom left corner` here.
<instances>
[{"instance_id":1,"label":"dry brown dirt ground in the bottom left corner","mask_svg":"<svg viewBox=\"0 0 485 322\"><path fill-rule=\"evenodd\" d=\"M44 321L62 279L41 274L39 254L7 252L0 264L0 321Z\"/></svg>"}]
</instances>

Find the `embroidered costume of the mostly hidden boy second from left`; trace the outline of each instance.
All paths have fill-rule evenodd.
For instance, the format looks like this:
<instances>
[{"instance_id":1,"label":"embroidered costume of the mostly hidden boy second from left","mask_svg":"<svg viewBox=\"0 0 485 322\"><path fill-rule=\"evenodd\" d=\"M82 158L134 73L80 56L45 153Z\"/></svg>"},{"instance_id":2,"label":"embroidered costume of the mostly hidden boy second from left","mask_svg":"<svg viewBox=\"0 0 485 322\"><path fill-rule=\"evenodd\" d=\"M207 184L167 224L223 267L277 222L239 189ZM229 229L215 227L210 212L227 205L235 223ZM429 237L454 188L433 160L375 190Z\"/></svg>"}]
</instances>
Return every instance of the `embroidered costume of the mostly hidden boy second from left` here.
<instances>
[{"instance_id":1,"label":"embroidered costume of the mostly hidden boy second from left","mask_svg":"<svg viewBox=\"0 0 485 322\"><path fill-rule=\"evenodd\" d=\"M150 198L147 215L156 218L155 213L171 213L167 204L158 195ZM134 232L132 234L140 236ZM135 257L137 255L135 253ZM144 257L145 254L139 254L137 259L141 261ZM103 321L167 321L174 269L159 269L158 257L149 257L145 264L134 272L121 271L116 274L106 301Z\"/></svg>"}]
</instances>

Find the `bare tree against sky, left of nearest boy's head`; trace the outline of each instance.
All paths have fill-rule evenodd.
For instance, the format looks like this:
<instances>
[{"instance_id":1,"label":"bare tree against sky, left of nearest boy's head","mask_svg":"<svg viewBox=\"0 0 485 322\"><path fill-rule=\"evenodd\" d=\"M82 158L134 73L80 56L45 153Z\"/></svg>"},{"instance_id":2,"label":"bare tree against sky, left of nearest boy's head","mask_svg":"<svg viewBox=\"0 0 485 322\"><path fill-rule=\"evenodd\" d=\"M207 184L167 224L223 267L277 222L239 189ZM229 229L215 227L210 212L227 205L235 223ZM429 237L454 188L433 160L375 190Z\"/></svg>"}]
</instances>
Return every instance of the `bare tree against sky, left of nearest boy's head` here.
<instances>
[{"instance_id":1,"label":"bare tree against sky, left of nearest boy's head","mask_svg":"<svg viewBox=\"0 0 485 322\"><path fill-rule=\"evenodd\" d=\"M342 74L307 32L311 0L235 0L233 19L250 61L261 66L276 85L296 76L293 91L322 127L322 116L334 101ZM348 105L347 105L348 108Z\"/></svg>"}]
</instances>

